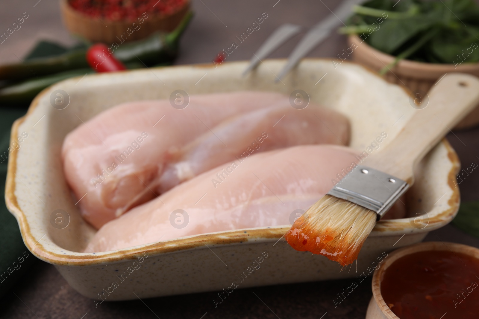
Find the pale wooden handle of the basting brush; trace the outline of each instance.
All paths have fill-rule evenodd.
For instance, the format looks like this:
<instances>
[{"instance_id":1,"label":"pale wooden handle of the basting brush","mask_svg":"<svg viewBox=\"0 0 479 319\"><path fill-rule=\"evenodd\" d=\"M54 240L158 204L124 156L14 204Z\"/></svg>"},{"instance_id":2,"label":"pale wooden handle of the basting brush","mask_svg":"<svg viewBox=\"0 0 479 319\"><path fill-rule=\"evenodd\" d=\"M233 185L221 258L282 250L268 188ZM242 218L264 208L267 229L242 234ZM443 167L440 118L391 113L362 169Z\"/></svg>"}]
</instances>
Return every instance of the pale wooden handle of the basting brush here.
<instances>
[{"instance_id":1,"label":"pale wooden handle of the basting brush","mask_svg":"<svg viewBox=\"0 0 479 319\"><path fill-rule=\"evenodd\" d=\"M380 152L367 156L364 165L412 184L413 167L478 105L479 78L462 73L446 74L428 95L427 106L414 110L393 141Z\"/></svg>"}]
</instances>

